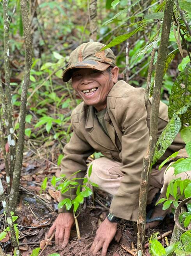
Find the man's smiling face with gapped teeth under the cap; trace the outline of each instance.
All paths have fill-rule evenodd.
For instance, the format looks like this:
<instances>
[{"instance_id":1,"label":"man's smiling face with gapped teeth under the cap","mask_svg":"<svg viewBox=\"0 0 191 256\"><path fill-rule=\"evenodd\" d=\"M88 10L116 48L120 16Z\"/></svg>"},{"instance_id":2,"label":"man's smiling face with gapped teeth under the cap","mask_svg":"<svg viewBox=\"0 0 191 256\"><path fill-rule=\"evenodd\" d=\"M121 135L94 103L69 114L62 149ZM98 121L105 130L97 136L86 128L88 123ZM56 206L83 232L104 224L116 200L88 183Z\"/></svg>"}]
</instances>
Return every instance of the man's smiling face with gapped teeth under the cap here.
<instances>
[{"instance_id":1,"label":"man's smiling face with gapped teeth under the cap","mask_svg":"<svg viewBox=\"0 0 191 256\"><path fill-rule=\"evenodd\" d=\"M116 67L117 68L117 67ZM118 75L118 74L117 74ZM97 111L106 108L106 99L116 79L113 72L93 70L91 68L75 69L72 75L72 86L80 98Z\"/></svg>"}]
</instances>

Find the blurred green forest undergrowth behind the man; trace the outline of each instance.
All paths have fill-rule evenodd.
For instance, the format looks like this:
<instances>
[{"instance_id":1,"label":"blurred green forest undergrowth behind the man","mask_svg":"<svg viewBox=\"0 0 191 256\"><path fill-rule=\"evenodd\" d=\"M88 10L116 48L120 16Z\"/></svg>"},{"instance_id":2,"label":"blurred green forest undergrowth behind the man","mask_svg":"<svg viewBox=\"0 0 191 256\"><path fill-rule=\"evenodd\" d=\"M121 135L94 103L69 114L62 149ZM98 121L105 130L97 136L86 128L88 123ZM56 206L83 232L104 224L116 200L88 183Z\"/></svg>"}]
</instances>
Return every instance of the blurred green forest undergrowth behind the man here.
<instances>
[{"instance_id":1,"label":"blurred green forest undergrowth behind the man","mask_svg":"<svg viewBox=\"0 0 191 256\"><path fill-rule=\"evenodd\" d=\"M1 7L5 2L7 1L0 1ZM72 134L71 111L81 102L76 97L71 83L62 82L62 70L67 66L71 51L83 42L100 41L111 47L115 53L121 73L120 79L123 78L134 87L149 86L150 88L151 86L152 88L165 3L166 1L150 0L89 2L58 0L27 3L28 25L30 25L32 36L32 66L27 88L25 147L21 175L23 187L33 186L33 189L35 186L40 187L44 175L51 177L60 170L59 166L64 157L62 149ZM8 2L7 21L4 16L5 8L0 8L0 51L2 53L0 77L2 92L5 91L6 95L5 105L7 104L8 108L9 104L13 106L14 132L10 134L11 141L18 140L19 124L21 124L19 120L21 86L23 75L26 73L27 59L20 4L19 0ZM191 1L181 0L176 1L176 4L179 4L187 24L190 24ZM176 6L174 5L167 49L168 57L161 88L161 100L167 105L175 79L190 61L190 31ZM6 30L6 22L8 30ZM8 41L6 41L5 30L9 32ZM149 70L151 59L153 59L153 66ZM7 95L5 86L8 84L7 73L9 73L7 79L10 78L11 98ZM1 138L5 138L2 140L2 151L5 148L8 155L7 163L11 166L14 158L11 159L10 152L13 150L14 153L14 143L10 145L6 142L7 139L9 140L9 134L6 132L3 103L2 100ZM1 177L5 190L10 192L9 179L6 181L7 188L5 187L6 161L4 162L3 159L3 152L1 152ZM11 172L12 170L9 173L10 177Z\"/></svg>"}]
</instances>

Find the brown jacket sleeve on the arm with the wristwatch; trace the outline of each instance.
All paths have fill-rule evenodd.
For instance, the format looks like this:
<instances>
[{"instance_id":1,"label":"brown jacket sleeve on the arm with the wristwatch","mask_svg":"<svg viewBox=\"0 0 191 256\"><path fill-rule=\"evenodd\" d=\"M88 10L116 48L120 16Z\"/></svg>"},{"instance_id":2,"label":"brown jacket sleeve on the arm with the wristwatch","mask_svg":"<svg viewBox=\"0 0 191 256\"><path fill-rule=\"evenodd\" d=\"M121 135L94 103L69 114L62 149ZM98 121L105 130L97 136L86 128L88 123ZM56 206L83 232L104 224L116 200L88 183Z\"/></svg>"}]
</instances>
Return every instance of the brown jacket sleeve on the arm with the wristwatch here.
<instances>
[{"instance_id":1,"label":"brown jacket sleeve on the arm with the wristwatch","mask_svg":"<svg viewBox=\"0 0 191 256\"><path fill-rule=\"evenodd\" d=\"M117 108L120 111L117 111ZM115 112L118 125L121 127L122 150L121 171L124 177L111 202L110 212L119 218L136 221L138 217L140 177L143 157L149 141L147 111L144 101L144 90L129 91L128 95L117 98Z\"/></svg>"}]
</instances>

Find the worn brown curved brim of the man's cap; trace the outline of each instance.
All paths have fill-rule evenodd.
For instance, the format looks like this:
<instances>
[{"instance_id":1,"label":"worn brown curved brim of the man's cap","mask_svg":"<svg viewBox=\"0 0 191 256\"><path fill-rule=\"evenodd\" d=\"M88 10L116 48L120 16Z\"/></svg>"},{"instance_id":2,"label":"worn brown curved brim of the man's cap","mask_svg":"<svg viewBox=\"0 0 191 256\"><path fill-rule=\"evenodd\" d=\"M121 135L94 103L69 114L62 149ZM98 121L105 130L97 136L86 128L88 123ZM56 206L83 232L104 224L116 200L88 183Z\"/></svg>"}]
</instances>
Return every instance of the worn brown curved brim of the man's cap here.
<instances>
[{"instance_id":1,"label":"worn brown curved brim of the man's cap","mask_svg":"<svg viewBox=\"0 0 191 256\"><path fill-rule=\"evenodd\" d=\"M92 68L92 69L96 69L99 71L104 71L109 66L111 66L111 65L108 63L103 63L103 62L99 62L99 61L90 61L90 60L81 61L81 62L75 63L74 65L71 65L68 68L66 68L63 72L62 80L64 82L69 81L72 77L72 73L73 73L72 70L74 68Z\"/></svg>"}]
</instances>

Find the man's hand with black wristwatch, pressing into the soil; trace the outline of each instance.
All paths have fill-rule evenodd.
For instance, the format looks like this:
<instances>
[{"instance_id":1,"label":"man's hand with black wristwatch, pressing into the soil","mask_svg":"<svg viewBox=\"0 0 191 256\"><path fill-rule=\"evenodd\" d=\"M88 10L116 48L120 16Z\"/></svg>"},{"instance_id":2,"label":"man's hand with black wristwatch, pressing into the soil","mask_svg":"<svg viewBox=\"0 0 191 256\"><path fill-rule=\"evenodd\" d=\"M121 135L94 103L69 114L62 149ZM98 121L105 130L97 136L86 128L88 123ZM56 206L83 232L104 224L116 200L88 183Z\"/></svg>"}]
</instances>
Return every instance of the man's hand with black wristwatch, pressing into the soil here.
<instances>
[{"instance_id":1,"label":"man's hand with black wristwatch, pressing into the soil","mask_svg":"<svg viewBox=\"0 0 191 256\"><path fill-rule=\"evenodd\" d=\"M106 256L108 246L110 245L110 242L115 236L116 232L117 223L110 222L107 218L105 218L105 220L99 226L99 229L97 229L96 237L90 248L93 255L96 255L96 253L102 248L101 255Z\"/></svg>"}]
</instances>

